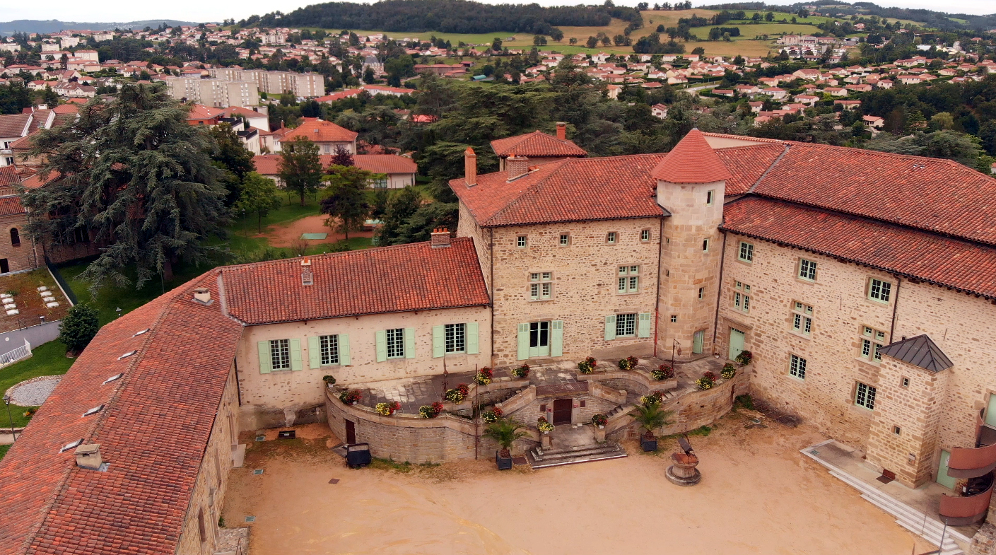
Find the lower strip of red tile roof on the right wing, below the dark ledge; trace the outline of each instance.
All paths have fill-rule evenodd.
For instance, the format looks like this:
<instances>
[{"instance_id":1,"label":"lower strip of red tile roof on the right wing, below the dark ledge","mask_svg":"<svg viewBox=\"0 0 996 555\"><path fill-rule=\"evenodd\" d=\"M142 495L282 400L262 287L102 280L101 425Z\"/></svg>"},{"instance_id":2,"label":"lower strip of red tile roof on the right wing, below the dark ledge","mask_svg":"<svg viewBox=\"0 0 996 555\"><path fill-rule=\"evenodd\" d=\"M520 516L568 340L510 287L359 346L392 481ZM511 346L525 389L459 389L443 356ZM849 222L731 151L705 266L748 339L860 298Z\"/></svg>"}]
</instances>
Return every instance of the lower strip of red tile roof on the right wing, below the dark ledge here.
<instances>
[{"instance_id":1,"label":"lower strip of red tile roof on the right wing, below the dark ledge","mask_svg":"<svg viewBox=\"0 0 996 555\"><path fill-rule=\"evenodd\" d=\"M757 196L726 204L722 228L996 299L996 248Z\"/></svg>"}]
</instances>

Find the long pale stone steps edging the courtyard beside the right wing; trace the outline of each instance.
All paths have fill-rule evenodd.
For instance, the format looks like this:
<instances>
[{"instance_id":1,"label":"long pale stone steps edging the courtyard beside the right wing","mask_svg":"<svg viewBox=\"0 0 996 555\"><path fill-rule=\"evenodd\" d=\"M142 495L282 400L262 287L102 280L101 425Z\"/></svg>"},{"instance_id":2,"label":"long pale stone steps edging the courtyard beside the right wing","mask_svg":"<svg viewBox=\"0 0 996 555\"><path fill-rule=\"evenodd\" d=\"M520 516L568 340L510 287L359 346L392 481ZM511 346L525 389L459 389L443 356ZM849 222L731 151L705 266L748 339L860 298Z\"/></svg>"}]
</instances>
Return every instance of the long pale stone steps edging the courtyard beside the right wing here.
<instances>
[{"instance_id":1,"label":"long pale stone steps edging the courtyard beside the right wing","mask_svg":"<svg viewBox=\"0 0 996 555\"><path fill-rule=\"evenodd\" d=\"M944 524L937 519L926 516L913 507L892 498L890 495L880 491L871 484L865 483L861 479L848 474L833 464L813 456L807 452L810 448L811 447L807 447L806 449L803 449L802 452L830 469L830 474L832 476L861 491L862 497L871 502L872 505L894 516L895 522L899 526L902 526L910 532L922 537L934 546L941 541L941 534L943 533L944 543L940 546L940 555L962 555L964 551L962 551L961 547L955 543L955 540L958 540L964 544L971 543L971 538L968 536L965 536L951 527L944 530Z\"/></svg>"}]
</instances>

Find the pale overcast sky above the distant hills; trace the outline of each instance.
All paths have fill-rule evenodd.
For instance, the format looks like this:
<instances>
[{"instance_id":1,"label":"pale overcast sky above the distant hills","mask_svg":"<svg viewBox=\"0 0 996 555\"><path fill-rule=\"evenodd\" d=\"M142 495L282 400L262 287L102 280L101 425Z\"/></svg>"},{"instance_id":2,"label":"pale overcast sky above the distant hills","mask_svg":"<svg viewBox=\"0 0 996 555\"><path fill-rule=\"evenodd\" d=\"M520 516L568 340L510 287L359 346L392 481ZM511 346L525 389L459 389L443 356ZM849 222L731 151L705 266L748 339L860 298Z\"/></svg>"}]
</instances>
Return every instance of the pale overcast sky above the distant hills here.
<instances>
[{"instance_id":1,"label":"pale overcast sky above the distant hills","mask_svg":"<svg viewBox=\"0 0 996 555\"><path fill-rule=\"evenodd\" d=\"M498 4L496 0L483 0ZM573 5L578 0L534 0L541 5ZM719 0L716 0L717 2ZM81 2L80 0L48 0L47 2L24 2L10 0L0 10L0 20L15 19L58 19L60 21L142 21L147 19L177 19L181 21L221 21L230 17L242 19L252 14L264 14L281 10L290 12L296 8L317 3L314 0L240 0L239 2L205 2L204 0L171 0L169 2L135 2L133 0L104 0ZM601 3L587 0L586 3ZM650 2L651 4L653 2ZM710 0L710 3L711 0ZM927 0L878 0L883 6L905 8L947 9L959 13L996 13L993 0L959 0L958 2L938 3ZM635 1L621 0L617 4L635 6ZM696 5L698 2L696 2Z\"/></svg>"}]
</instances>

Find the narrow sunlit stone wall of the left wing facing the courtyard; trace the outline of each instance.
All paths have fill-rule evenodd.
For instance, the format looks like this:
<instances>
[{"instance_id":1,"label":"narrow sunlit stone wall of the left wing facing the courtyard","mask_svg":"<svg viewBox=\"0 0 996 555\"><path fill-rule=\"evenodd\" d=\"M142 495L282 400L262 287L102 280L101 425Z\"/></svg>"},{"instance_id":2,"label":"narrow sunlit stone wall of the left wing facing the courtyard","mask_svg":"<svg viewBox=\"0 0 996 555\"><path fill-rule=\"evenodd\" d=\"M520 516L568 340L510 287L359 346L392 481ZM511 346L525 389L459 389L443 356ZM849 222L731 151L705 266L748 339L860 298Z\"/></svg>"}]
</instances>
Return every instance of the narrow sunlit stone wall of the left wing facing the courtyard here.
<instances>
[{"instance_id":1,"label":"narrow sunlit stone wall of the left wing facing the courtyard","mask_svg":"<svg viewBox=\"0 0 996 555\"><path fill-rule=\"evenodd\" d=\"M225 392L218 407L214 426L200 460L186 517L180 530L176 553L204 555L214 553L218 543L218 517L224 507L228 489L228 470L232 467L232 449L238 444L238 384L235 369L228 375ZM201 523L205 531L200 534Z\"/></svg>"}]
</instances>

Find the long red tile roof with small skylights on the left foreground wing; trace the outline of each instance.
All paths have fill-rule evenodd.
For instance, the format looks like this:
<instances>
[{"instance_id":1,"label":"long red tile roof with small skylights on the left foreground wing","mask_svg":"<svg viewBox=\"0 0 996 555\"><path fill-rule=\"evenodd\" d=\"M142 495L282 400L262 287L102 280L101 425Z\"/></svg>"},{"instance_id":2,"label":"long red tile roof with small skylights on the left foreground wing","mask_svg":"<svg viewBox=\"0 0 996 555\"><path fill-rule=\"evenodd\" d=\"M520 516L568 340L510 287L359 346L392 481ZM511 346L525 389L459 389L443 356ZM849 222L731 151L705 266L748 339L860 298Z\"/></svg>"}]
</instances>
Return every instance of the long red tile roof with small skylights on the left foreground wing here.
<instances>
[{"instance_id":1,"label":"long red tile roof with small skylights on the left foreground wing","mask_svg":"<svg viewBox=\"0 0 996 555\"><path fill-rule=\"evenodd\" d=\"M220 303L191 300L199 286L216 297L217 270L104 326L11 446L0 514L17 518L0 520L0 553L176 552L242 333ZM107 471L59 452L80 438L100 443Z\"/></svg>"}]
</instances>

